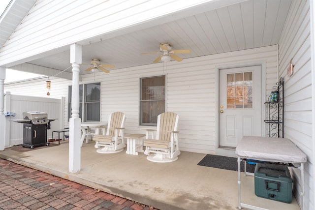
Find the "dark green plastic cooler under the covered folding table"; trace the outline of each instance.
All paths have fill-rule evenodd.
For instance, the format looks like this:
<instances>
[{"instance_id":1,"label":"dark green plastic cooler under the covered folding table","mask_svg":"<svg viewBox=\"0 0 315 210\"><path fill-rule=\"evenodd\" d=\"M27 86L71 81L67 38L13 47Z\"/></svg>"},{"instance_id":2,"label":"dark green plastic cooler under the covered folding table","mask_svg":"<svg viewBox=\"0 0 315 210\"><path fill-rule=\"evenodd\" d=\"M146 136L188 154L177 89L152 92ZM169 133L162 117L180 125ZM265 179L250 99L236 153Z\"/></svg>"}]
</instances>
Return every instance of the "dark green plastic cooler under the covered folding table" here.
<instances>
[{"instance_id":1,"label":"dark green plastic cooler under the covered folding table","mask_svg":"<svg viewBox=\"0 0 315 210\"><path fill-rule=\"evenodd\" d=\"M287 166L257 163L254 180L256 196L292 202L292 178Z\"/></svg>"}]
</instances>

